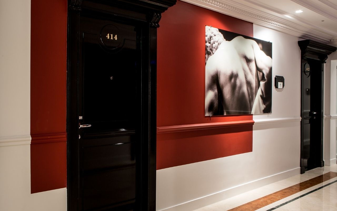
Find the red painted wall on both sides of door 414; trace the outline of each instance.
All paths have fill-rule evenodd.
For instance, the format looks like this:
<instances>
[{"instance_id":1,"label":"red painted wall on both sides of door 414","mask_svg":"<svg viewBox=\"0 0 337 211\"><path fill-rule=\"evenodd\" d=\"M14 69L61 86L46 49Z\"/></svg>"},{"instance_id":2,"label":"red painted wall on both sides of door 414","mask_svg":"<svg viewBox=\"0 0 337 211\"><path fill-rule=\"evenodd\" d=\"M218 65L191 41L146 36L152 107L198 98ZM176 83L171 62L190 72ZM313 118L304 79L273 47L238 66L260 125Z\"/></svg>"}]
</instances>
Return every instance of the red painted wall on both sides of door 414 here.
<instances>
[{"instance_id":1,"label":"red painted wall on both sides of door 414","mask_svg":"<svg viewBox=\"0 0 337 211\"><path fill-rule=\"evenodd\" d=\"M185 2L162 14L157 126L251 121L205 117L205 25L253 36L253 25ZM66 187L67 1L31 0L31 192ZM157 134L157 169L252 151L252 126Z\"/></svg>"}]
</instances>

